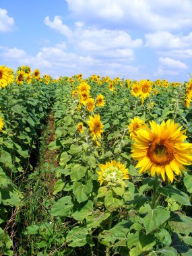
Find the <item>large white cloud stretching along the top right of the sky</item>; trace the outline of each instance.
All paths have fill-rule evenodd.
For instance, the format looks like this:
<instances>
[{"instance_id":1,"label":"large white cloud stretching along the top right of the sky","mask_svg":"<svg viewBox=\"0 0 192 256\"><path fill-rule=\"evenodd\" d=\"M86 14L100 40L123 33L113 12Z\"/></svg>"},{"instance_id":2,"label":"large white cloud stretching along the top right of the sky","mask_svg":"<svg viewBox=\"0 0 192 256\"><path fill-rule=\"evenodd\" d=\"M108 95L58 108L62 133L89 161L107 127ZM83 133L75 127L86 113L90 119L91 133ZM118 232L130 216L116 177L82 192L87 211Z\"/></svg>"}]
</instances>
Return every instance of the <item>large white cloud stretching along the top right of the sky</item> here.
<instances>
[{"instance_id":1,"label":"large white cloud stretching along the top right of the sky","mask_svg":"<svg viewBox=\"0 0 192 256\"><path fill-rule=\"evenodd\" d=\"M189 0L67 0L71 14L88 24L140 30L191 28Z\"/></svg>"}]
</instances>

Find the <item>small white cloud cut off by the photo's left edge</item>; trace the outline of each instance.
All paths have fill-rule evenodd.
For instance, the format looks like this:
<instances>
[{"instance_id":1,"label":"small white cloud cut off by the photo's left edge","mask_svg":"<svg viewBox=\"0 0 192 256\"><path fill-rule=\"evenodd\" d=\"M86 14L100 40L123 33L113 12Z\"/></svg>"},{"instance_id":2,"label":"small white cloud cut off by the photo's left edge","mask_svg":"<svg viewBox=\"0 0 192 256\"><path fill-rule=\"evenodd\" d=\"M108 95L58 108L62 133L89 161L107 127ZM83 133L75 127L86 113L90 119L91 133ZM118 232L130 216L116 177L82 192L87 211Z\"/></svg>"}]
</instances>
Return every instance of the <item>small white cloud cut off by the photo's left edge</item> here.
<instances>
[{"instance_id":1,"label":"small white cloud cut off by the photo's left edge","mask_svg":"<svg viewBox=\"0 0 192 256\"><path fill-rule=\"evenodd\" d=\"M7 15L6 9L0 8L0 32L9 32L13 29L14 20Z\"/></svg>"}]
</instances>

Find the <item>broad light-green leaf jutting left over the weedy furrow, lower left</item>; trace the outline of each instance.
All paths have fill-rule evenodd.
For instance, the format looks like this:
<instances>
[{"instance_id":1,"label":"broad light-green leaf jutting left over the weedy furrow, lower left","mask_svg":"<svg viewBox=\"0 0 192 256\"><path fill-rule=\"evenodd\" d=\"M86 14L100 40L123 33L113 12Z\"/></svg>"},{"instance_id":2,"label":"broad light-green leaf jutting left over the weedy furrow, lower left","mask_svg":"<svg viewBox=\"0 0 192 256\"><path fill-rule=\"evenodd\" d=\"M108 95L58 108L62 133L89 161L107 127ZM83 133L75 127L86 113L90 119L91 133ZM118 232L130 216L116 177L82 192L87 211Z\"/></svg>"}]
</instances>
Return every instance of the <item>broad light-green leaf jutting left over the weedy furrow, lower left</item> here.
<instances>
[{"instance_id":1,"label":"broad light-green leaf jutting left over the weedy furrow, lower left","mask_svg":"<svg viewBox=\"0 0 192 256\"><path fill-rule=\"evenodd\" d=\"M71 202L71 197L67 195L53 204L50 213L52 216L69 216L72 208L73 203Z\"/></svg>"}]
</instances>

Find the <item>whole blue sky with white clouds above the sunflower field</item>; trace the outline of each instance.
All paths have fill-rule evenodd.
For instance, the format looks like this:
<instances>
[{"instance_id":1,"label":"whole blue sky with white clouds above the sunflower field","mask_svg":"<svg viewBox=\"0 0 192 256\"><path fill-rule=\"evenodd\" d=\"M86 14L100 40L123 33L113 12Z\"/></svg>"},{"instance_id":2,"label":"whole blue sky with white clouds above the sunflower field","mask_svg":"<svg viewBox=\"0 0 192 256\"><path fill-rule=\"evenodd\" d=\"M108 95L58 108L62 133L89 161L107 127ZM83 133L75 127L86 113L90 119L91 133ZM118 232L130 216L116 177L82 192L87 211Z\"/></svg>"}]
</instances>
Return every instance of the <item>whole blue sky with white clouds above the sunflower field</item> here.
<instances>
[{"instance_id":1,"label":"whole blue sky with white clouds above the sunflower field","mask_svg":"<svg viewBox=\"0 0 192 256\"><path fill-rule=\"evenodd\" d=\"M189 81L191 0L0 0L0 65Z\"/></svg>"}]
</instances>

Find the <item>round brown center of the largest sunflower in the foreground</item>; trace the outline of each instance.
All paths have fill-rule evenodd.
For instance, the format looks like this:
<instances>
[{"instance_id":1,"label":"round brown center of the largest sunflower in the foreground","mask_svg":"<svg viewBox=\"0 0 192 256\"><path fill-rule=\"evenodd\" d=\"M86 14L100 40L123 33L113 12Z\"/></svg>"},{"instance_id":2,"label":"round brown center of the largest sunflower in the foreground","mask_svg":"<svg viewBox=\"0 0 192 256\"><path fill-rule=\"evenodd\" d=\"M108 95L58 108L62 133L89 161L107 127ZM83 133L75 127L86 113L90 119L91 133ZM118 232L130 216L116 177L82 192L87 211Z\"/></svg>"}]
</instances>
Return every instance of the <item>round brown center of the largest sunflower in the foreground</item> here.
<instances>
[{"instance_id":1,"label":"round brown center of the largest sunflower in the foreground","mask_svg":"<svg viewBox=\"0 0 192 256\"><path fill-rule=\"evenodd\" d=\"M155 139L148 148L147 156L154 164L169 164L174 159L172 143L167 139Z\"/></svg>"}]
</instances>

